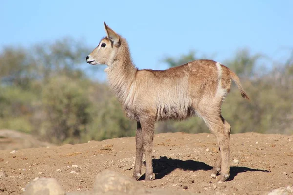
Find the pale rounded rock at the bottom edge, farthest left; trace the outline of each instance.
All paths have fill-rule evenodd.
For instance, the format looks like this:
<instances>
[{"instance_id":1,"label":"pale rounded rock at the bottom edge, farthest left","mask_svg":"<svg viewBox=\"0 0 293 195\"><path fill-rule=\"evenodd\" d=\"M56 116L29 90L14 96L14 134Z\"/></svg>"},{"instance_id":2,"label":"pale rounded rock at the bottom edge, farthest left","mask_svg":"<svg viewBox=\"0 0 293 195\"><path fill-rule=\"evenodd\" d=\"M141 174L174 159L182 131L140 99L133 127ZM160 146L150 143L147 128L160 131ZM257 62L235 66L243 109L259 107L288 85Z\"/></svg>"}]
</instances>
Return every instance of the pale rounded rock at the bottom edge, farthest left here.
<instances>
[{"instance_id":1,"label":"pale rounded rock at the bottom edge, farthest left","mask_svg":"<svg viewBox=\"0 0 293 195\"><path fill-rule=\"evenodd\" d=\"M36 178L26 186L23 195L65 195L65 191L54 178Z\"/></svg>"}]
</instances>

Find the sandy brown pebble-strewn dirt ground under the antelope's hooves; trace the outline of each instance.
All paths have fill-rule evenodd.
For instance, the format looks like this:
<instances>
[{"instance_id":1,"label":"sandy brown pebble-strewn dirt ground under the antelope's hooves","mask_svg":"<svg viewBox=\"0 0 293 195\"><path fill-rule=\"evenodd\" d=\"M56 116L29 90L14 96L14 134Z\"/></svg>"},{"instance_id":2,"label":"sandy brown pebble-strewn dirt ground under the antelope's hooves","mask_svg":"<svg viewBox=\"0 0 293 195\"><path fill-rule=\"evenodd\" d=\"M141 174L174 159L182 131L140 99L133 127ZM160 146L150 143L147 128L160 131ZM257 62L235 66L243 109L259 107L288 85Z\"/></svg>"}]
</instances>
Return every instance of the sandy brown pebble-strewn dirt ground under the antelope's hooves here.
<instances>
[{"instance_id":1,"label":"sandy brown pebble-strewn dirt ground under the antelope's hooves","mask_svg":"<svg viewBox=\"0 0 293 195\"><path fill-rule=\"evenodd\" d=\"M147 188L208 195L266 195L273 189L293 185L293 136L231 135L230 181L220 184L210 178L217 154L212 134L157 134L153 150L155 180L137 181ZM135 138L11 152L0 150L1 195L21 194L35 177L54 177L67 191L87 191L92 189L96 174L102 170L132 176Z\"/></svg>"}]
</instances>

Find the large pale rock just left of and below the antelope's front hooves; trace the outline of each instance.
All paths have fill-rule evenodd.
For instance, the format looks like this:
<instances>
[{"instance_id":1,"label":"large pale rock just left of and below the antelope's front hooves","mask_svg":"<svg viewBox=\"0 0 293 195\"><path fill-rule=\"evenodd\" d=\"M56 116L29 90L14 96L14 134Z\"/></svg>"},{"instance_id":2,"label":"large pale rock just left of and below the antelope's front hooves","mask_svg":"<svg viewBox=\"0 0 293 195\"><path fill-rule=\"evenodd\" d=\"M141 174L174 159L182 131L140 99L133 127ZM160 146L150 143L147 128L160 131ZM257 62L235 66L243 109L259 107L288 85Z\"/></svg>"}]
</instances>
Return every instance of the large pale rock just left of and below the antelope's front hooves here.
<instances>
[{"instance_id":1,"label":"large pale rock just left of and below the antelope's front hooves","mask_svg":"<svg viewBox=\"0 0 293 195\"><path fill-rule=\"evenodd\" d=\"M94 191L96 193L105 192L133 192L142 188L134 179L128 178L120 173L111 170L104 170L96 176ZM118 193L120 194L120 193Z\"/></svg>"}]
</instances>

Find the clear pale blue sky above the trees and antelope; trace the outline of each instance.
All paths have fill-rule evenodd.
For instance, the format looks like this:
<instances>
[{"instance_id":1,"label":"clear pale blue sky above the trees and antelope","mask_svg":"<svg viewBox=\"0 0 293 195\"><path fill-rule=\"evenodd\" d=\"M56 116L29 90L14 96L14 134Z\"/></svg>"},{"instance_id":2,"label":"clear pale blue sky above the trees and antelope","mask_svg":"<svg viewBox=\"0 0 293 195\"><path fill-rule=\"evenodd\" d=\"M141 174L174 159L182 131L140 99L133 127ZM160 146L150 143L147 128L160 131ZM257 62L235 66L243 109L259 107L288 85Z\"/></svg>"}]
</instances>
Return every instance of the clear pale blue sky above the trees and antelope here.
<instances>
[{"instance_id":1,"label":"clear pale blue sky above the trees and antelope","mask_svg":"<svg viewBox=\"0 0 293 195\"><path fill-rule=\"evenodd\" d=\"M0 48L71 36L93 49L104 21L139 68L165 69L160 59L190 50L223 62L239 48L273 59L293 48L292 0L1 0Z\"/></svg>"}]
</instances>

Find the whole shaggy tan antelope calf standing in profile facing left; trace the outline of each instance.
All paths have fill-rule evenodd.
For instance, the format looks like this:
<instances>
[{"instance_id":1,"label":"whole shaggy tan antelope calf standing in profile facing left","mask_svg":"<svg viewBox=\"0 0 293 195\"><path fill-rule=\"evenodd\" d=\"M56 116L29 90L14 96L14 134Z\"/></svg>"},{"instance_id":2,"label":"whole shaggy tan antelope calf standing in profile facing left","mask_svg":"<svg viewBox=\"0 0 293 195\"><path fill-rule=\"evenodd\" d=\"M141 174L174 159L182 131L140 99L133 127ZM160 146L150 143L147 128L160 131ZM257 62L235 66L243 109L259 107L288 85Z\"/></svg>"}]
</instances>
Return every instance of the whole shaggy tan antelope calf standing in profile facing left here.
<instances>
[{"instance_id":1,"label":"whole shaggy tan antelope calf standing in profile facing left","mask_svg":"<svg viewBox=\"0 0 293 195\"><path fill-rule=\"evenodd\" d=\"M138 70L132 62L126 39L105 22L106 37L86 57L92 65L105 64L109 86L126 116L137 121L136 158L133 178L141 176L142 156L146 157L146 180L152 180L152 145L156 121L202 117L217 138L219 153L211 177L219 182L229 178L229 139L231 126L221 115L223 98L231 81L243 98L249 99L237 75L212 60L195 60L164 71Z\"/></svg>"}]
</instances>

